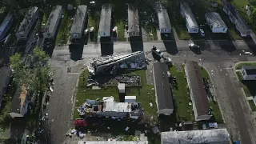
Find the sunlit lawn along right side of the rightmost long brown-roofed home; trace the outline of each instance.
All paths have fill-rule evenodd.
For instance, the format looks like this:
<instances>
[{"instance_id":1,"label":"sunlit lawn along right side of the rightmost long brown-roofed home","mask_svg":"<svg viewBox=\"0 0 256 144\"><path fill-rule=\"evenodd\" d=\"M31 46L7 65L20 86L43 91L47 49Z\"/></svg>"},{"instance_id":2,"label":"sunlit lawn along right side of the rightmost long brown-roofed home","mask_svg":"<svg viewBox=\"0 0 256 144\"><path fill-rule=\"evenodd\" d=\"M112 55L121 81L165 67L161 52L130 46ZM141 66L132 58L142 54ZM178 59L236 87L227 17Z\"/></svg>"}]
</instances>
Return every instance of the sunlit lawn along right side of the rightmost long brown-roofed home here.
<instances>
[{"instance_id":1,"label":"sunlit lawn along right side of the rightmost long brown-roofed home","mask_svg":"<svg viewBox=\"0 0 256 144\"><path fill-rule=\"evenodd\" d=\"M201 70L202 70L202 77L208 79L208 82L210 83L210 76L207 70L204 69L203 67L201 67ZM219 110L218 102L214 101L214 99L210 99L210 108L212 110L214 122L223 123L222 113Z\"/></svg>"}]
</instances>

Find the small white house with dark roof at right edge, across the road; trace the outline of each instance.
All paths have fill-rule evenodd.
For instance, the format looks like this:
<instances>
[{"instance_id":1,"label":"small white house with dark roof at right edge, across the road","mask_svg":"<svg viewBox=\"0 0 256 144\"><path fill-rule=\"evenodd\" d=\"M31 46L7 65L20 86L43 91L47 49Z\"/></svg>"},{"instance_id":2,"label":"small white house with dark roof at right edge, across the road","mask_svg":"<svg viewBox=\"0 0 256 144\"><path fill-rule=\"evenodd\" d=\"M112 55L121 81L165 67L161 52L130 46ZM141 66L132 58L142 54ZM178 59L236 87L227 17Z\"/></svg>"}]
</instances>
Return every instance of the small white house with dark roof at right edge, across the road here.
<instances>
[{"instance_id":1,"label":"small white house with dark roof at right edge, across the road","mask_svg":"<svg viewBox=\"0 0 256 144\"><path fill-rule=\"evenodd\" d=\"M242 66L240 72L243 80L256 80L256 66Z\"/></svg>"}]
</instances>

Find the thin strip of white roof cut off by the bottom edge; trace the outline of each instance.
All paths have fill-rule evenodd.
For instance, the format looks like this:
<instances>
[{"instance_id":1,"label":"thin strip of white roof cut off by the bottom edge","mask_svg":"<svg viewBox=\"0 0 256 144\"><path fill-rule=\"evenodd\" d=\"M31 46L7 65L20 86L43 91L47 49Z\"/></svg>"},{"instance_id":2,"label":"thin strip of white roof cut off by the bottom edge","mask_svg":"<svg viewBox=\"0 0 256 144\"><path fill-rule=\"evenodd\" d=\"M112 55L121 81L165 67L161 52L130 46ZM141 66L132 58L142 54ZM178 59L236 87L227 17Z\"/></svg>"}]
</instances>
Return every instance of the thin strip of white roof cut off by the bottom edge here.
<instances>
[{"instance_id":1,"label":"thin strip of white roof cut off by the bottom edge","mask_svg":"<svg viewBox=\"0 0 256 144\"><path fill-rule=\"evenodd\" d=\"M148 144L148 141L78 141L78 144Z\"/></svg>"}]
</instances>

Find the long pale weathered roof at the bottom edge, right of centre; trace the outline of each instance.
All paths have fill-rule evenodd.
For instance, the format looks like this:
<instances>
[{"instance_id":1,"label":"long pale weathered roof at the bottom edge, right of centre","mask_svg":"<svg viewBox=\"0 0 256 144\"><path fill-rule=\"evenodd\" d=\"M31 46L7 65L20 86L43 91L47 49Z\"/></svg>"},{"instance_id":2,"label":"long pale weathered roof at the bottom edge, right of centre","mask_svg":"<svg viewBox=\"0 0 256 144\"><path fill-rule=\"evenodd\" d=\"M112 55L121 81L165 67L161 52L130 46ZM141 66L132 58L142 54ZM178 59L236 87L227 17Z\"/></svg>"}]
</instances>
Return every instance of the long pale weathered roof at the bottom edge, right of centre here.
<instances>
[{"instance_id":1,"label":"long pale weathered roof at the bottom edge, right of centre","mask_svg":"<svg viewBox=\"0 0 256 144\"><path fill-rule=\"evenodd\" d=\"M203 144L229 140L230 134L226 129L168 131L161 134L161 142L165 144Z\"/></svg>"}]
</instances>

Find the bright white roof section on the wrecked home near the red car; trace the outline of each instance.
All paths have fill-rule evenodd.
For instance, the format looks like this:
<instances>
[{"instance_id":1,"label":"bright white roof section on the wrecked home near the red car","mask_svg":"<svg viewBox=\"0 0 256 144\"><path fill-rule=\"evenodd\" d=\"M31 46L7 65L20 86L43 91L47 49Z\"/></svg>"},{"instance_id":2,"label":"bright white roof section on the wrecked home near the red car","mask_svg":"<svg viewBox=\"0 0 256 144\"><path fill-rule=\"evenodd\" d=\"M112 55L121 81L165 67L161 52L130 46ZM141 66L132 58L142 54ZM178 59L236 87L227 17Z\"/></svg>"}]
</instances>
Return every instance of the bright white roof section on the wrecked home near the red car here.
<instances>
[{"instance_id":1,"label":"bright white roof section on the wrecked home near the red car","mask_svg":"<svg viewBox=\"0 0 256 144\"><path fill-rule=\"evenodd\" d=\"M131 112L131 105L128 102L105 102L103 111Z\"/></svg>"}]
</instances>

